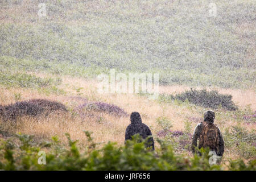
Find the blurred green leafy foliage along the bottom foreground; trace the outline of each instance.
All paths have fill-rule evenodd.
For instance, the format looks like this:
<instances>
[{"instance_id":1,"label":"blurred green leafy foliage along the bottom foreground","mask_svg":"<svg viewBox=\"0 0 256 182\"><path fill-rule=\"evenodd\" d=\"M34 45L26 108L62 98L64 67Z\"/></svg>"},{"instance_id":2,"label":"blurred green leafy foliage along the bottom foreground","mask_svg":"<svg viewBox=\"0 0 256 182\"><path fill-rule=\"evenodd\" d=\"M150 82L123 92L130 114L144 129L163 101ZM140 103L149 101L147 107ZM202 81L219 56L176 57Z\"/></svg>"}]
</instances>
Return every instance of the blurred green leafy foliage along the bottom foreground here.
<instances>
[{"instance_id":1,"label":"blurred green leafy foliage along the bottom foreground","mask_svg":"<svg viewBox=\"0 0 256 182\"><path fill-rule=\"evenodd\" d=\"M69 147L63 147L57 137L52 142L35 144L30 135L17 134L18 142L0 142L0 169L4 170L221 170L224 166L209 164L208 150L201 149L203 156L187 157L177 155L171 145L158 140L156 151L144 148L137 143L137 137L127 141L125 146L109 142L97 148L90 133L88 146L84 152L77 147L69 134ZM44 152L47 151L47 152ZM45 155L44 155L45 154ZM44 160L45 156L45 160ZM256 160L245 164L242 160L229 160L228 169L255 170Z\"/></svg>"}]
</instances>

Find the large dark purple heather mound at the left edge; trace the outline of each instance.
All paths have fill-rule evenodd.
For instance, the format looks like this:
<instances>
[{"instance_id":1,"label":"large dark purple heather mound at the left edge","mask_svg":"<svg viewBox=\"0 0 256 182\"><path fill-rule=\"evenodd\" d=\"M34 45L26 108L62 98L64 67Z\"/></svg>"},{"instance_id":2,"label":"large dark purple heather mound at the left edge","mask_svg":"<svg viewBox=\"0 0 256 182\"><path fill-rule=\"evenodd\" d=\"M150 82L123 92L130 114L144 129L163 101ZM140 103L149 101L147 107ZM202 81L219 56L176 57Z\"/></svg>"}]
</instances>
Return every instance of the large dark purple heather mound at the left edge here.
<instances>
[{"instance_id":1,"label":"large dark purple heather mound at the left edge","mask_svg":"<svg viewBox=\"0 0 256 182\"><path fill-rule=\"evenodd\" d=\"M67 111L66 107L60 102L43 99L20 101L7 106L0 106L0 114L3 120L15 120L24 115L36 117L42 114L49 114L53 111Z\"/></svg>"}]
</instances>

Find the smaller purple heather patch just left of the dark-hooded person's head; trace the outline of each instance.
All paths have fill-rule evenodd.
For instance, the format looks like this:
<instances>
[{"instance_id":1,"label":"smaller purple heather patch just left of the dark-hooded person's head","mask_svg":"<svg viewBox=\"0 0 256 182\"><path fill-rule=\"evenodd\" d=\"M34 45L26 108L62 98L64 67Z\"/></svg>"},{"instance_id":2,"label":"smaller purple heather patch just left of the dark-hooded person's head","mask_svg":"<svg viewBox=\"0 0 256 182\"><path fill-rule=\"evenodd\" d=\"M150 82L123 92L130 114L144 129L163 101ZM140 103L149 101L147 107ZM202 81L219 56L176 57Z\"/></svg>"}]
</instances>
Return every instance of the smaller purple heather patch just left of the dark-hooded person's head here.
<instances>
[{"instance_id":1,"label":"smaller purple heather patch just left of the dark-hooded person's head","mask_svg":"<svg viewBox=\"0 0 256 182\"><path fill-rule=\"evenodd\" d=\"M81 110L94 110L94 111L100 111L105 112L108 114L113 114L118 117L128 117L129 115L121 109L120 107L112 104L106 104L104 102L92 102L92 103L85 103L77 107L77 110L81 112Z\"/></svg>"}]
</instances>

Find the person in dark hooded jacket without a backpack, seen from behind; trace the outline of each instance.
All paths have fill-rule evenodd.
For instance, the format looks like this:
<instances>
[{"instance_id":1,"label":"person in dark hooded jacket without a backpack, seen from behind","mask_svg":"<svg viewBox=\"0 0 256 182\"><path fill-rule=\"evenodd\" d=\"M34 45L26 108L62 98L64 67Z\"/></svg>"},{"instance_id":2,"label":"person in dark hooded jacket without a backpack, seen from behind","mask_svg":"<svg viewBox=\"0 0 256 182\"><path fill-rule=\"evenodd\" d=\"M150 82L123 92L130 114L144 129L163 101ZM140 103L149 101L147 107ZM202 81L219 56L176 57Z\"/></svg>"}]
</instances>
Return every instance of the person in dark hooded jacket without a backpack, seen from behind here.
<instances>
[{"instance_id":1,"label":"person in dark hooded jacket without a backpack, seen from behind","mask_svg":"<svg viewBox=\"0 0 256 182\"><path fill-rule=\"evenodd\" d=\"M130 121L131 121L131 124L127 126L125 131L125 143L126 143L126 140L131 140L132 139L131 137L135 134L141 135L143 139L146 139L147 137L151 136L150 138L148 138L145 145L146 147L151 147L152 150L155 150L152 133L149 127L144 123L142 123L141 115L137 112L131 113Z\"/></svg>"}]
</instances>

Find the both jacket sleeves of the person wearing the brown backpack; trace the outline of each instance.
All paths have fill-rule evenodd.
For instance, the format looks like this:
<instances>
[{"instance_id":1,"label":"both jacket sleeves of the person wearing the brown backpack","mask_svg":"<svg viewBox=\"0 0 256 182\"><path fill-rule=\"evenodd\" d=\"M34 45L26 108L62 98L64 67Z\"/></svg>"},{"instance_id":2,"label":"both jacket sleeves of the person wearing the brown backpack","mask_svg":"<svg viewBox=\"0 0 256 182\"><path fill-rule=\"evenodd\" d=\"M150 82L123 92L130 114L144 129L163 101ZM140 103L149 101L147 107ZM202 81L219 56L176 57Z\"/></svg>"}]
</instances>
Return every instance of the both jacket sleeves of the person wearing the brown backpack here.
<instances>
[{"instance_id":1,"label":"both jacket sleeves of the person wearing the brown backpack","mask_svg":"<svg viewBox=\"0 0 256 182\"><path fill-rule=\"evenodd\" d=\"M203 132L203 123L199 123L194 131L193 137L192 137L192 145L191 149L192 152L195 153L195 148L197 147L197 139L199 139L200 134ZM218 156L222 156L224 154L224 140L221 135L220 129L218 128L218 151L216 151Z\"/></svg>"}]
</instances>

